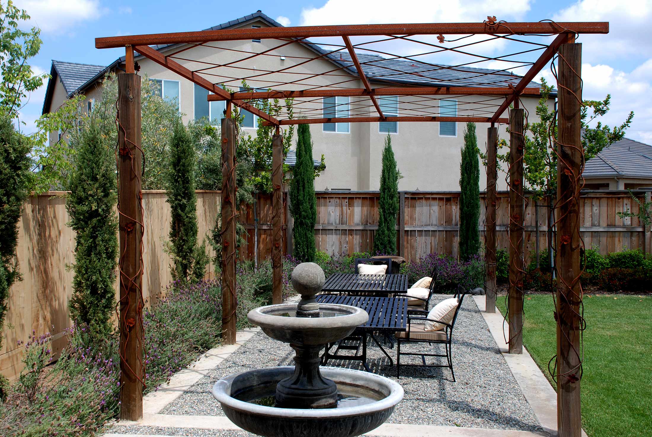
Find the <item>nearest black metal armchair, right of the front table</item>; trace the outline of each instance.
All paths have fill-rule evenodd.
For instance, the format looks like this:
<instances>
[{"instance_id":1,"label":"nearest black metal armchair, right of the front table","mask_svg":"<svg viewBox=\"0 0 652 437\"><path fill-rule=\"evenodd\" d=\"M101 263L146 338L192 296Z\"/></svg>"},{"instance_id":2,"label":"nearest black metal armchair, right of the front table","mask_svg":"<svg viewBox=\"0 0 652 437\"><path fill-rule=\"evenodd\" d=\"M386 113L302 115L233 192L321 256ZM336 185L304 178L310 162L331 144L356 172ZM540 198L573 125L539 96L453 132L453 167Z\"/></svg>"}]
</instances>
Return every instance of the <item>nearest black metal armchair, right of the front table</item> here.
<instances>
[{"instance_id":1,"label":"nearest black metal armchair, right of the front table","mask_svg":"<svg viewBox=\"0 0 652 437\"><path fill-rule=\"evenodd\" d=\"M458 286L455 297L458 299L457 307L450 324L442 322L441 320L432 320L428 318L428 311L426 310L408 310L408 330L396 333L396 377L400 378L401 366L409 367L447 367L451 369L452 381L455 382L455 372L452 370L452 330L457 320L457 315L462 307L462 301L466 292L462 286ZM425 331L424 323L426 321L436 322L445 325L441 331ZM428 343L428 344L443 344L446 349L445 354L426 354L417 352L401 352L401 343ZM401 355L417 355L421 356L423 364L401 364ZM447 364L426 364L426 357L446 357Z\"/></svg>"}]
</instances>

